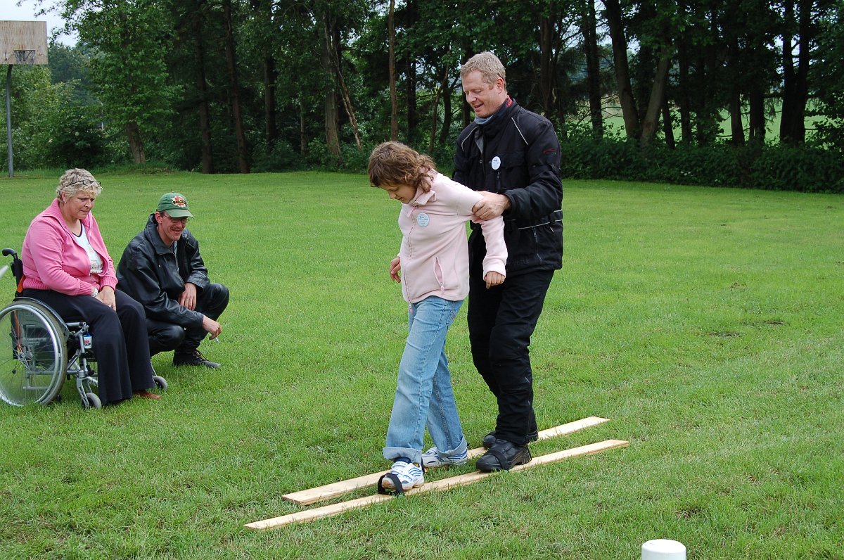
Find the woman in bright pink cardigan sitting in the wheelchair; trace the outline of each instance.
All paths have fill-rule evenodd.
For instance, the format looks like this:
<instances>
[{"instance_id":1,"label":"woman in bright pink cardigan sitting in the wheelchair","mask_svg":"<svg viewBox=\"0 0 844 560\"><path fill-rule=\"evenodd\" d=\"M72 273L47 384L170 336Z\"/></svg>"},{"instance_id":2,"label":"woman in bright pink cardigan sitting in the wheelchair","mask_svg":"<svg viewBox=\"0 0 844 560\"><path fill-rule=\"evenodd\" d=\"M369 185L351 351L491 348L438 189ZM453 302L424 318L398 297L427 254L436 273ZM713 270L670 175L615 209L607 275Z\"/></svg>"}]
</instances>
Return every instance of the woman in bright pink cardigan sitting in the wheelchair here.
<instances>
[{"instance_id":1,"label":"woman in bright pink cardigan sitting in the wheelchair","mask_svg":"<svg viewBox=\"0 0 844 560\"><path fill-rule=\"evenodd\" d=\"M84 169L64 172L56 199L26 231L21 296L56 310L65 321L89 324L103 405L134 396L160 399L149 362L143 307L116 291L114 264L91 214L100 183Z\"/></svg>"}]
</instances>

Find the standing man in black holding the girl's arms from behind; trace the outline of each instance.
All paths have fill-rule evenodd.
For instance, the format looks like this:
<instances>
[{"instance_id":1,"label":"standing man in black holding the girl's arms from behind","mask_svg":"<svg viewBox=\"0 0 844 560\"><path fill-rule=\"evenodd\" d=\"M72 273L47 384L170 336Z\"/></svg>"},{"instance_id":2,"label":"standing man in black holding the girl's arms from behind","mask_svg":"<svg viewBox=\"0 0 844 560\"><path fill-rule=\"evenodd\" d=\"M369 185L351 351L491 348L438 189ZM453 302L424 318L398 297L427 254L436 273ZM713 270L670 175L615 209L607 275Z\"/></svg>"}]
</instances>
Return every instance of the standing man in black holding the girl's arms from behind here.
<instances>
[{"instance_id":1,"label":"standing man in black holding the girl's arms from behind","mask_svg":"<svg viewBox=\"0 0 844 560\"><path fill-rule=\"evenodd\" d=\"M537 438L533 372L527 347L554 271L562 268L563 188L560 142L551 122L527 111L506 90L504 66L491 52L460 70L475 120L457 138L454 180L484 193L473 212L504 218L507 279L487 289L484 237L469 237L468 327L475 367L498 400L495 431L478 469L509 470L531 460Z\"/></svg>"}]
</instances>

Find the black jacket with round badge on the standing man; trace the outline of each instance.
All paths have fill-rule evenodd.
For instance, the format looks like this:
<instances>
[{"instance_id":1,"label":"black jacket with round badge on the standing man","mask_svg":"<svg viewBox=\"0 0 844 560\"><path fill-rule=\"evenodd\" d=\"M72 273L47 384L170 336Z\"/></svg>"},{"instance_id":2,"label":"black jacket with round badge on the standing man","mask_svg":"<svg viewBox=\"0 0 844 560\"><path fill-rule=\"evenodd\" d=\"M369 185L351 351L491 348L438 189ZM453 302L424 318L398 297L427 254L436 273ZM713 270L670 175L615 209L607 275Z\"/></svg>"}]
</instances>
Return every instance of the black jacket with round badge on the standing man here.
<instances>
[{"instance_id":1,"label":"black jacket with round badge on the standing man","mask_svg":"<svg viewBox=\"0 0 844 560\"><path fill-rule=\"evenodd\" d=\"M516 101L484 125L475 122L457 138L454 175L476 191L510 199L502 216L507 244L507 275L562 268L563 186L560 141L551 122ZM473 225L469 258L485 253L484 237ZM483 273L481 273L483 274Z\"/></svg>"}]
</instances>

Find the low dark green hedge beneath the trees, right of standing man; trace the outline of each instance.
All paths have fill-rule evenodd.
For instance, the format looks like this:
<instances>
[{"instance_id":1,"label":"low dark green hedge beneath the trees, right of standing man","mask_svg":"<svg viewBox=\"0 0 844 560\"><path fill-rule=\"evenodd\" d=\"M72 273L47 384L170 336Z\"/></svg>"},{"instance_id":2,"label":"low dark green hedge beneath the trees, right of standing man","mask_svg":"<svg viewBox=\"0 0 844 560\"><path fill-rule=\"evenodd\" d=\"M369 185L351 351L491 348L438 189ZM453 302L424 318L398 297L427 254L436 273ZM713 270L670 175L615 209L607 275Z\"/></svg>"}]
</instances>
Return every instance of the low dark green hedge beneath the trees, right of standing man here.
<instances>
[{"instance_id":1,"label":"low dark green hedge beneath the trees, right of standing man","mask_svg":"<svg viewBox=\"0 0 844 560\"><path fill-rule=\"evenodd\" d=\"M625 139L565 140L563 177L671 182L714 187L844 193L844 160L810 146L731 146L654 143L642 149Z\"/></svg>"}]
</instances>

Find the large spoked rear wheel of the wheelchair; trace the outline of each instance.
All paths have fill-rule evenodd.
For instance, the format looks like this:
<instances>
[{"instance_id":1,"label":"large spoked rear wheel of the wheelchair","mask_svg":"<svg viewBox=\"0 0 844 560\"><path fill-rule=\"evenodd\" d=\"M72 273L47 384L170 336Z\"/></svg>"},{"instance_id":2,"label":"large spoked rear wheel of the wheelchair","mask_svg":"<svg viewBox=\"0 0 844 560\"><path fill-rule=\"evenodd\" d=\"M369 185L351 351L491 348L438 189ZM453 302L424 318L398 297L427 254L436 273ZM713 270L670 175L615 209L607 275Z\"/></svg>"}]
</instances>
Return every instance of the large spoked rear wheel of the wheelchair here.
<instances>
[{"instance_id":1,"label":"large spoked rear wheel of the wheelchair","mask_svg":"<svg viewBox=\"0 0 844 560\"><path fill-rule=\"evenodd\" d=\"M45 307L12 302L0 311L0 399L46 405L64 385L68 329Z\"/></svg>"}]
</instances>

